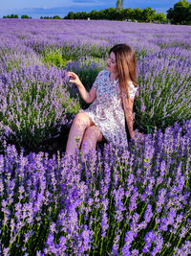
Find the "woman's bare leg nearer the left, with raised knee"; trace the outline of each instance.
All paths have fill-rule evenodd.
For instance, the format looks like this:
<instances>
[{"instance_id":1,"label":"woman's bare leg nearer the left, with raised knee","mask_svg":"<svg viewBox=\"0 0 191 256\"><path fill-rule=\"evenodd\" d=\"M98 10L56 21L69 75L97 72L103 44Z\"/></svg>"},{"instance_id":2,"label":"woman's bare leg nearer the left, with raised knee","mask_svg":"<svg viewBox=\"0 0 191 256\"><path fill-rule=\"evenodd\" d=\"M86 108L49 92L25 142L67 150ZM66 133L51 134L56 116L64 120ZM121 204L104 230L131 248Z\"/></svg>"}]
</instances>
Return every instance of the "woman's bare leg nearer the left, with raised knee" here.
<instances>
[{"instance_id":1,"label":"woman's bare leg nearer the left, with raised knee","mask_svg":"<svg viewBox=\"0 0 191 256\"><path fill-rule=\"evenodd\" d=\"M66 145L67 154L74 156L77 149L75 138L78 140L78 145L80 146L85 129L93 125L92 119L86 113L80 112L75 115Z\"/></svg>"}]
</instances>

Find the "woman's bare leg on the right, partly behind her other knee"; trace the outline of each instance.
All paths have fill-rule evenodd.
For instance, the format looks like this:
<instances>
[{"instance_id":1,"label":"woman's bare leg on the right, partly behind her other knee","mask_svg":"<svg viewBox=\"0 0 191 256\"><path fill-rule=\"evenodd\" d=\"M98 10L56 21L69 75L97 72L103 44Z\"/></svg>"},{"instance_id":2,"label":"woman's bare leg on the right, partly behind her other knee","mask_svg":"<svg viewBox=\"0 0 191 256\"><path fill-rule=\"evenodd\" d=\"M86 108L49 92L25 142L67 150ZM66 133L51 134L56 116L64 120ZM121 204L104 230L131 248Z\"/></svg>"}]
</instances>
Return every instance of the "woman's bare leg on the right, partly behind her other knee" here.
<instances>
[{"instance_id":1,"label":"woman's bare leg on the right, partly behind her other knee","mask_svg":"<svg viewBox=\"0 0 191 256\"><path fill-rule=\"evenodd\" d=\"M83 155L88 153L88 151L95 150L96 151L96 143L104 140L104 137L101 131L93 125L89 128L86 128L83 141L81 143L81 152Z\"/></svg>"}]
</instances>

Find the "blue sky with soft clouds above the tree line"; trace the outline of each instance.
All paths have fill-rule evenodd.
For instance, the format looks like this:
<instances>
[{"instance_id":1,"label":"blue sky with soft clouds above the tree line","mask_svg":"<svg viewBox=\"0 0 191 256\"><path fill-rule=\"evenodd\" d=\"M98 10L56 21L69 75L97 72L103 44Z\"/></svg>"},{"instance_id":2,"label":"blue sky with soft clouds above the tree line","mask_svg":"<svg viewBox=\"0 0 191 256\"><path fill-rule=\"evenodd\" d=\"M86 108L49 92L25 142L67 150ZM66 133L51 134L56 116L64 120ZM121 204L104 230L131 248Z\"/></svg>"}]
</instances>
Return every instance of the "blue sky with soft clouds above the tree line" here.
<instances>
[{"instance_id":1,"label":"blue sky with soft clouds above the tree line","mask_svg":"<svg viewBox=\"0 0 191 256\"><path fill-rule=\"evenodd\" d=\"M123 8L144 9L151 7L157 12L166 13L179 0L124 0ZM40 16L59 15L68 12L91 12L107 8L116 8L117 0L0 0L0 17L18 14L40 18Z\"/></svg>"}]
</instances>

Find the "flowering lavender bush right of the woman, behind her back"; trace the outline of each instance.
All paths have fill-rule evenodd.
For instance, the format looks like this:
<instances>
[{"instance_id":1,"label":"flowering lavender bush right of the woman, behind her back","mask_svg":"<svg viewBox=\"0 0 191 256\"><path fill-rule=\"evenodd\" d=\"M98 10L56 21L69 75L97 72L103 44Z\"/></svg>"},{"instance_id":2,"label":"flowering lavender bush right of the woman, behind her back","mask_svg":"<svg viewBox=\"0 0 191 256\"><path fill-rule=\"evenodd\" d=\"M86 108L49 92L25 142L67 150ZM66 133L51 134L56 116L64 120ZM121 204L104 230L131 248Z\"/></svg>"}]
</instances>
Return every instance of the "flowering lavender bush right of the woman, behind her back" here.
<instances>
[{"instance_id":1,"label":"flowering lavender bush right of the woman, behind her back","mask_svg":"<svg viewBox=\"0 0 191 256\"><path fill-rule=\"evenodd\" d=\"M138 128L167 128L191 119L190 61L143 58L138 62Z\"/></svg>"}]
</instances>

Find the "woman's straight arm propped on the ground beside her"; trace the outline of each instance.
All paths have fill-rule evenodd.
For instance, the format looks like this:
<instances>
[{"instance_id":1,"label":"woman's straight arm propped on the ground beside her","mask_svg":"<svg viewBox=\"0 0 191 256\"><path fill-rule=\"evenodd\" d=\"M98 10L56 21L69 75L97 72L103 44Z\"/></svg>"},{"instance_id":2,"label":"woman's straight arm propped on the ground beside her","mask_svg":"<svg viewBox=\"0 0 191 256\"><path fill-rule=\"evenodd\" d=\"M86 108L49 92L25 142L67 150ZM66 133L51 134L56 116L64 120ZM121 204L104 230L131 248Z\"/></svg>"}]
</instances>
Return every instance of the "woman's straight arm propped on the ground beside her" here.
<instances>
[{"instance_id":1,"label":"woman's straight arm propped on the ground beside her","mask_svg":"<svg viewBox=\"0 0 191 256\"><path fill-rule=\"evenodd\" d=\"M134 98L127 99L122 98L123 109L125 113L125 118L127 121L127 127L129 129L130 137L133 139L136 135L134 130L134 116L133 116L133 106L134 106Z\"/></svg>"}]
</instances>

